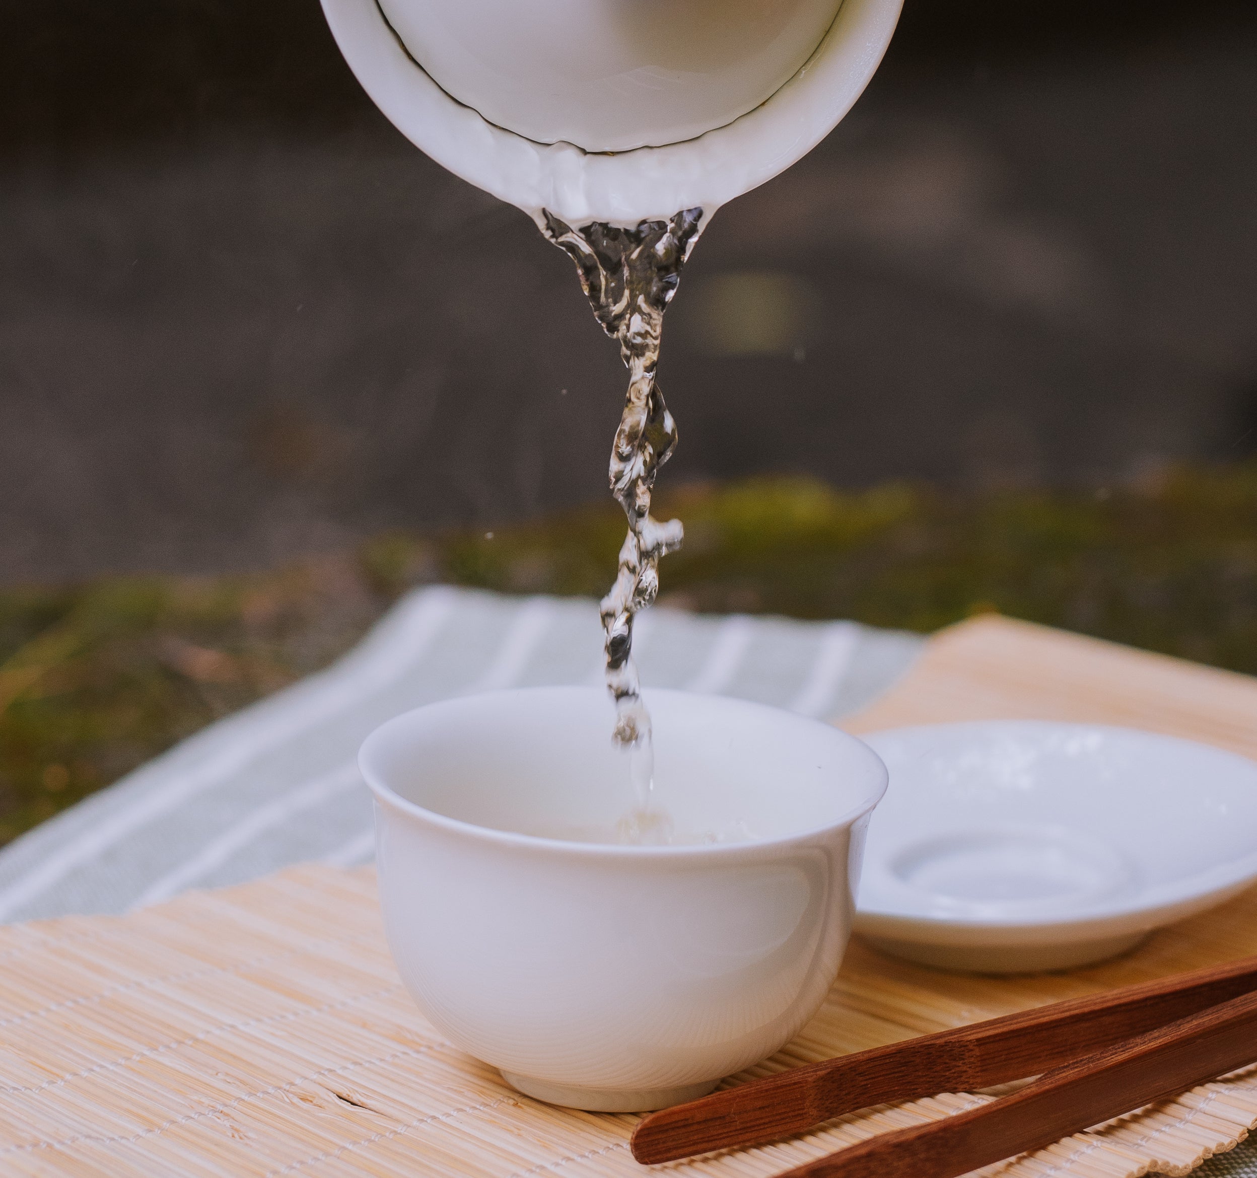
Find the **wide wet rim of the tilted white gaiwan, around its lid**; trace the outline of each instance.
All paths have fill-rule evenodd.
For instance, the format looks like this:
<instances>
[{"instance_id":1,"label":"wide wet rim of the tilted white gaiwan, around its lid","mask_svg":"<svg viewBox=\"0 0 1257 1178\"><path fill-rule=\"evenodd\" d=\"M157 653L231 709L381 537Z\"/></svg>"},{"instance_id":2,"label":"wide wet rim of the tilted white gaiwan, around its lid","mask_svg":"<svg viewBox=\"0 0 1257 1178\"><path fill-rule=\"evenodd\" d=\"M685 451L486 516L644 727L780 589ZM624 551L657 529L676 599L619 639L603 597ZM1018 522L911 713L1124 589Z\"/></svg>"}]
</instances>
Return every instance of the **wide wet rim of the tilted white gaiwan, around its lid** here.
<instances>
[{"instance_id":1,"label":"wide wet rim of the tilted white gaiwan, around its lid","mask_svg":"<svg viewBox=\"0 0 1257 1178\"><path fill-rule=\"evenodd\" d=\"M541 222L634 226L727 201L807 154L851 109L877 69L903 0L842 0L799 70L760 103L693 139L625 152L538 143L451 98L402 46L376 0L322 0L332 35L362 88L416 147Z\"/></svg>"}]
</instances>

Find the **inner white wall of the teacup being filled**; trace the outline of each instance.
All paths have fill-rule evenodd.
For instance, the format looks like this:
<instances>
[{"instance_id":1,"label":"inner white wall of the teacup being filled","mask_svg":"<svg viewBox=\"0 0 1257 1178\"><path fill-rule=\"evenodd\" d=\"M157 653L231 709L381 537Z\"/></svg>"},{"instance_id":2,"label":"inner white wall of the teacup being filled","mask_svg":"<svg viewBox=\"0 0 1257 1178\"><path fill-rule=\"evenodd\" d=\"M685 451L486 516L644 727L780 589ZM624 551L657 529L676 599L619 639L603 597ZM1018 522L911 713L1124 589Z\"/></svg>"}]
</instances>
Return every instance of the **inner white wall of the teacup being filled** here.
<instances>
[{"instance_id":1,"label":"inner white wall of the teacup being filled","mask_svg":"<svg viewBox=\"0 0 1257 1178\"><path fill-rule=\"evenodd\" d=\"M739 701L650 693L649 806L680 841L764 841L841 819L866 795L862 745L827 725ZM680 702L684 700L684 703ZM371 764L397 797L471 826L620 843L637 799L601 688L502 692L424 708L381 731ZM392 736L392 738L388 738ZM605 838L598 838L605 835Z\"/></svg>"}]
</instances>

